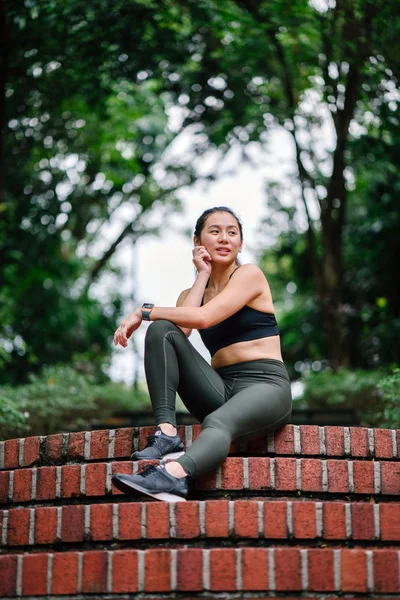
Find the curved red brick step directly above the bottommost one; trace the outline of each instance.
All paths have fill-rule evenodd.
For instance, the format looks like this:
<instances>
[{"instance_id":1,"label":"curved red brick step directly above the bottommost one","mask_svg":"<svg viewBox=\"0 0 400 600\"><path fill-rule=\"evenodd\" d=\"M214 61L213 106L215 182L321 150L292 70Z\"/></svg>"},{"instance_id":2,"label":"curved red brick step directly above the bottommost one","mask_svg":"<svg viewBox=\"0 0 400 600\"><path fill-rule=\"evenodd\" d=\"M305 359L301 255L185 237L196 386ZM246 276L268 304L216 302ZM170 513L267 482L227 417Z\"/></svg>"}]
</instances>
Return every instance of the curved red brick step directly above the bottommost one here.
<instances>
[{"instance_id":1,"label":"curved red brick step directly above the bottommost one","mask_svg":"<svg viewBox=\"0 0 400 600\"><path fill-rule=\"evenodd\" d=\"M400 503L310 500L119 502L0 511L2 547L80 542L271 540L314 544L400 542ZM29 548L28 548L29 549Z\"/></svg>"}]
</instances>

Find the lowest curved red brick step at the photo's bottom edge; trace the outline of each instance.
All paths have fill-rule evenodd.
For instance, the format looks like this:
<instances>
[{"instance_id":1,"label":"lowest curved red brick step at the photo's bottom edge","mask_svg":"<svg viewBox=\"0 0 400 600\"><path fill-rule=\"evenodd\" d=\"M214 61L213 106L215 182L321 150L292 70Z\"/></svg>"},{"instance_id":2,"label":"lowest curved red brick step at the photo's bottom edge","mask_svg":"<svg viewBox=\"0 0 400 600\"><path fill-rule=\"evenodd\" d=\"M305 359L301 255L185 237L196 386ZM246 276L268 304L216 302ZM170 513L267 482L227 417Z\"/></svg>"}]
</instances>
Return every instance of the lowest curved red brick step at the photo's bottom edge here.
<instances>
[{"instance_id":1,"label":"lowest curved red brick step at the photo's bottom edge","mask_svg":"<svg viewBox=\"0 0 400 600\"><path fill-rule=\"evenodd\" d=\"M15 554L0 556L0 571L0 594L17 597L203 590L395 594L400 589L399 551L394 549L168 548Z\"/></svg>"}]
</instances>

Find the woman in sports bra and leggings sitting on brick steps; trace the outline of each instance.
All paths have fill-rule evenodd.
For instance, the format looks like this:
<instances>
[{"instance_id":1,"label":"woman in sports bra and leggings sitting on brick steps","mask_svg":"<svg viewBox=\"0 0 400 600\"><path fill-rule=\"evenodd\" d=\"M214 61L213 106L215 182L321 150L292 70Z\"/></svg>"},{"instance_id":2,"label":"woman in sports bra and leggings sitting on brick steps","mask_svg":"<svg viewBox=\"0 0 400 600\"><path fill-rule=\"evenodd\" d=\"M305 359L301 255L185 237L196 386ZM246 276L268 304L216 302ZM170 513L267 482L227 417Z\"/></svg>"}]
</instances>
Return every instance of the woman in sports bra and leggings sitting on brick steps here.
<instances>
[{"instance_id":1,"label":"woman in sports bra and leggings sitting on brick steps","mask_svg":"<svg viewBox=\"0 0 400 600\"><path fill-rule=\"evenodd\" d=\"M114 344L126 347L143 319L154 321L146 335L145 372L157 428L132 459L164 460L136 475L114 475L113 483L128 494L185 500L188 480L218 467L232 440L265 436L290 419L271 291L256 265L240 266L242 243L242 225L231 209L206 210L194 233L193 286L176 308L144 304L115 332ZM189 342L192 329L210 351L211 366ZM202 423L186 453L176 429L176 392Z\"/></svg>"}]
</instances>

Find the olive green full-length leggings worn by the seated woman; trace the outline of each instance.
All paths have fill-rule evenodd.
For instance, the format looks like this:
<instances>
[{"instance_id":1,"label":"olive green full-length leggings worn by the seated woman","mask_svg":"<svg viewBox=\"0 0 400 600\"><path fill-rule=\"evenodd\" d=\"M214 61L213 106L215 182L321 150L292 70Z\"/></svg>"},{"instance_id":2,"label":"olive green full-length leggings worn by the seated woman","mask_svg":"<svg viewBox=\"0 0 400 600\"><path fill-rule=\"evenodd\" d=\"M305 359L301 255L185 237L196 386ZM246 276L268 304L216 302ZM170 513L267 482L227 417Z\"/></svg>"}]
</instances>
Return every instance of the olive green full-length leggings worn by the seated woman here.
<instances>
[{"instance_id":1,"label":"olive green full-length leggings worn by the seated woman","mask_svg":"<svg viewBox=\"0 0 400 600\"><path fill-rule=\"evenodd\" d=\"M214 370L171 321L154 321L148 328L145 372L156 424L176 427L176 392L202 423L200 435L177 461L191 477L218 467L232 440L265 436L291 416L283 362L253 360Z\"/></svg>"}]
</instances>

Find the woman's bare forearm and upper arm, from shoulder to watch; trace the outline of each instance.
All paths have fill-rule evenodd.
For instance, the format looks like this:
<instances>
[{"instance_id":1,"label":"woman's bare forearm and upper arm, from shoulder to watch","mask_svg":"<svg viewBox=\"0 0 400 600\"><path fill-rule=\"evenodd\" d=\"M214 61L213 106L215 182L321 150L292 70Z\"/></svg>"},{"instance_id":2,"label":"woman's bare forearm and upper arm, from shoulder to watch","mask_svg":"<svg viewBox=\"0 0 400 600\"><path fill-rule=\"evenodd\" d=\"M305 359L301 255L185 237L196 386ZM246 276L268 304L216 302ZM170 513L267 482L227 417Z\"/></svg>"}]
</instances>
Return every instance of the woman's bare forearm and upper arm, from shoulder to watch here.
<instances>
[{"instance_id":1,"label":"woman's bare forearm and upper arm, from shoulder to watch","mask_svg":"<svg viewBox=\"0 0 400 600\"><path fill-rule=\"evenodd\" d=\"M176 308L155 306L150 312L150 320L166 319L179 327L206 329L227 319L245 304L257 298L265 289L265 285L266 280L261 269L256 265L243 265L229 280L225 289L204 306Z\"/></svg>"}]
</instances>

